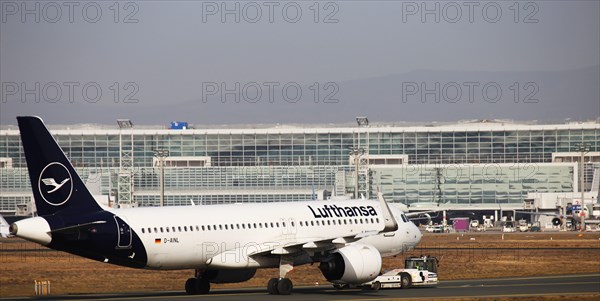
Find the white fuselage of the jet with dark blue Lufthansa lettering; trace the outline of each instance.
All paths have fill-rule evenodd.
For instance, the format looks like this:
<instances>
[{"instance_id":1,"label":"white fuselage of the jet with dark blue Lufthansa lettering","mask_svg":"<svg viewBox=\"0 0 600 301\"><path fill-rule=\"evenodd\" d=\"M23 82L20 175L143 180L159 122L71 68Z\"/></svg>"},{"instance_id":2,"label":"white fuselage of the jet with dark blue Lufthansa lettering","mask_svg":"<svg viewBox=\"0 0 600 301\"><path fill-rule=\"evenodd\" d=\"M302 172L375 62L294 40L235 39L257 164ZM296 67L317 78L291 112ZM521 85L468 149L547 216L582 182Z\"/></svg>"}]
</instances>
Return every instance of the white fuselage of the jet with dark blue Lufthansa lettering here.
<instances>
[{"instance_id":1,"label":"white fuselage of the jet with dark blue Lufthansa lettering","mask_svg":"<svg viewBox=\"0 0 600 301\"><path fill-rule=\"evenodd\" d=\"M299 243L372 233L384 227L379 202L368 200L110 211L127 222L140 237L150 269L202 269L208 267L207 261L214 257L228 263L220 268L276 267L278 261L248 262L247 259L254 254L277 252L273 250L285 252L285 247ZM374 246L383 257L412 249L421 239L418 228L402 218L401 211L392 208L392 212L398 230L358 241Z\"/></svg>"}]
</instances>

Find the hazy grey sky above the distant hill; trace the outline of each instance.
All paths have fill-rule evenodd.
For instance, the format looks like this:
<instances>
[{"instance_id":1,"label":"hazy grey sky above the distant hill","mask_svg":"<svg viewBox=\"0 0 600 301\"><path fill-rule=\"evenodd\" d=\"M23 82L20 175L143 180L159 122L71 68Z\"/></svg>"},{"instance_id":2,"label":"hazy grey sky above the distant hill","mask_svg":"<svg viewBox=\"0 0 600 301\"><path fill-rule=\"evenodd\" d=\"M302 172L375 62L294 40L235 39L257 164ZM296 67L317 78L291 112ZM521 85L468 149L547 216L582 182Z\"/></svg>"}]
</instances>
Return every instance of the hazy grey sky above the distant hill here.
<instances>
[{"instance_id":1,"label":"hazy grey sky above the distant hill","mask_svg":"<svg viewBox=\"0 0 600 301\"><path fill-rule=\"evenodd\" d=\"M70 123L70 114L153 123L138 114L220 95L223 83L232 89L240 83L231 92L238 94L252 94L254 83L264 91L318 83L315 89L328 94L334 92L325 88L328 82L339 87L418 70L560 72L600 65L598 1L114 3L1 1L0 123L14 124L18 114L43 115L47 105L64 112L62 122L50 120L55 123ZM598 95L599 85L589 85L587 94ZM211 87L218 91L206 90ZM368 92L377 98L378 91ZM93 112L99 107L102 116ZM265 108L280 113L277 106ZM600 105L581 109L600 114ZM186 108L173 110L167 120ZM214 114L221 123L237 122L227 109Z\"/></svg>"}]
</instances>

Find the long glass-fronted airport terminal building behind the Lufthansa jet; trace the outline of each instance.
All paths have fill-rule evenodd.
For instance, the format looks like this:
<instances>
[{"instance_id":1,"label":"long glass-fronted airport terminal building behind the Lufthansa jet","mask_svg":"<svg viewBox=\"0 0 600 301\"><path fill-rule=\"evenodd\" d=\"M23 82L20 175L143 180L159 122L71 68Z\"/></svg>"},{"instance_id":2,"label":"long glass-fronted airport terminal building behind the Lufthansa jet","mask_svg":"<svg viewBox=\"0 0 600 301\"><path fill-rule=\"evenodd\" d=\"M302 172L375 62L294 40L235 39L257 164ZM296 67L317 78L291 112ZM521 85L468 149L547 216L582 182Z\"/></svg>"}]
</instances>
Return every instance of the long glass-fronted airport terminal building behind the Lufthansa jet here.
<instances>
[{"instance_id":1,"label":"long glass-fronted airport terminal building behind the Lufthansa jet","mask_svg":"<svg viewBox=\"0 0 600 301\"><path fill-rule=\"evenodd\" d=\"M525 124L49 125L97 194L120 206L376 197L411 208L522 208L529 192L586 189L600 166L600 120ZM134 121L135 122L135 121ZM43 151L43 150L40 150ZM161 181L163 179L164 182ZM161 185L164 183L164 186ZM163 189L161 189L163 188ZM16 126L0 130L0 213L32 193Z\"/></svg>"}]
</instances>

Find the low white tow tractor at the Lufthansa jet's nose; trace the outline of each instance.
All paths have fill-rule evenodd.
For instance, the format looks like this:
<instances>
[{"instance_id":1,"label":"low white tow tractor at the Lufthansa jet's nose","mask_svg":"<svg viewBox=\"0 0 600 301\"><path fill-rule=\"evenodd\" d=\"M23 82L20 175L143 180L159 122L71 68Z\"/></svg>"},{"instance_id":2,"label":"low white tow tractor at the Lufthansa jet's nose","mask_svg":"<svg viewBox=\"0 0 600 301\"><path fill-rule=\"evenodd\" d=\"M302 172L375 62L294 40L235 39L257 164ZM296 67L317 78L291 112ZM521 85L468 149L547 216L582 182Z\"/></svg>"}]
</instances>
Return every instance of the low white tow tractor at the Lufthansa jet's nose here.
<instances>
[{"instance_id":1,"label":"low white tow tractor at the Lufthansa jet's nose","mask_svg":"<svg viewBox=\"0 0 600 301\"><path fill-rule=\"evenodd\" d=\"M360 287L378 290L380 288L409 288L411 286L436 285L438 260L435 257L409 257L404 261L404 269L393 269L365 282Z\"/></svg>"}]
</instances>

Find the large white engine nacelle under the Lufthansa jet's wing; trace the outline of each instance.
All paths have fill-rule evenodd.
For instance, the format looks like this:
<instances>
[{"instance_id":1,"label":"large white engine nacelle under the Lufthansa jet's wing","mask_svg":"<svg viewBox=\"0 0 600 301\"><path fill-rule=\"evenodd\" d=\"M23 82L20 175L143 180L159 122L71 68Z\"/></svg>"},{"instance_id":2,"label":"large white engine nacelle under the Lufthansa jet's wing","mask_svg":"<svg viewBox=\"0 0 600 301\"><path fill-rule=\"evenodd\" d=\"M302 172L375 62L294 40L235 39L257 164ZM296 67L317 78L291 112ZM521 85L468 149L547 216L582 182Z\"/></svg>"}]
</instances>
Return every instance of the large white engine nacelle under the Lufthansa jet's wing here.
<instances>
[{"instance_id":1,"label":"large white engine nacelle under the Lufthansa jet's wing","mask_svg":"<svg viewBox=\"0 0 600 301\"><path fill-rule=\"evenodd\" d=\"M319 269L333 283L360 284L375 279L381 271L381 254L370 245L343 247L321 260Z\"/></svg>"}]
</instances>

